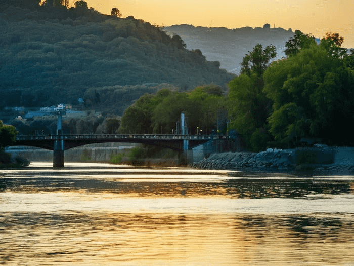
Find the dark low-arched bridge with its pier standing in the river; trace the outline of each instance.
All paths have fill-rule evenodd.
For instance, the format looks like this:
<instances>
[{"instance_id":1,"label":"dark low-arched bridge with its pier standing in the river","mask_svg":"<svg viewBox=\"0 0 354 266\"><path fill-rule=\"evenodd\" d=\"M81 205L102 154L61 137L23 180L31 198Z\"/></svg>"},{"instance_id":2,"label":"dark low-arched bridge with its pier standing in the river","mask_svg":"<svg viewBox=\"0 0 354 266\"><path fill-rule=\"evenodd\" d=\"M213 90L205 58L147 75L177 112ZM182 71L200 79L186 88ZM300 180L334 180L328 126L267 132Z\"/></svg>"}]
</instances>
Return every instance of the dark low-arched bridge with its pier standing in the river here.
<instances>
[{"instance_id":1,"label":"dark low-arched bridge with its pier standing in the river","mask_svg":"<svg viewBox=\"0 0 354 266\"><path fill-rule=\"evenodd\" d=\"M192 149L210 140L222 138L219 135L27 135L17 136L13 146L33 146L53 150L53 167L64 167L64 150L93 143L120 142L144 143L178 151Z\"/></svg>"}]
</instances>

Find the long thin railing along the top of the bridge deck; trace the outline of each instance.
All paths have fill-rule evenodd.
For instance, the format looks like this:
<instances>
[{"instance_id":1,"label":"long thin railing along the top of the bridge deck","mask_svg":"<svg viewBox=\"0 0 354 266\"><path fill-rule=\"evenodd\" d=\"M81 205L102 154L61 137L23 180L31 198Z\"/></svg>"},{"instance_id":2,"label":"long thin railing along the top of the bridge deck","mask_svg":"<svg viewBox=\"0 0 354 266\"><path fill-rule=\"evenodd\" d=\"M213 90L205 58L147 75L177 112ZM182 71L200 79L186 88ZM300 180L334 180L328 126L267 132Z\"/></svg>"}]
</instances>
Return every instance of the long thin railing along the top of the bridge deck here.
<instances>
[{"instance_id":1,"label":"long thin railing along the top of the bridge deck","mask_svg":"<svg viewBox=\"0 0 354 266\"><path fill-rule=\"evenodd\" d=\"M72 140L72 139L182 139L182 140L214 140L220 135L160 135L160 134L80 134L80 135L25 135L17 136L17 140Z\"/></svg>"}]
</instances>

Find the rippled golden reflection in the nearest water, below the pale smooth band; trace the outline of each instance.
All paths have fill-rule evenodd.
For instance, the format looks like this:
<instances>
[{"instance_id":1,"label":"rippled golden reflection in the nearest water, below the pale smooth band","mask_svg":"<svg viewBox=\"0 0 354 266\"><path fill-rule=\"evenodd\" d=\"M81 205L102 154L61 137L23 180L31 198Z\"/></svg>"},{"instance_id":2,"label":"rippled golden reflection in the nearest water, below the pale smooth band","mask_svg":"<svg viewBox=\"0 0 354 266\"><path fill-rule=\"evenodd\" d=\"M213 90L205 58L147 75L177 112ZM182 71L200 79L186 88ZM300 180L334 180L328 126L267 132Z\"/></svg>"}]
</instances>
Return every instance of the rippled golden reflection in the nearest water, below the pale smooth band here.
<instances>
[{"instance_id":1,"label":"rippled golden reflection in the nearest water, below the pale smooth band","mask_svg":"<svg viewBox=\"0 0 354 266\"><path fill-rule=\"evenodd\" d=\"M1 262L25 265L345 265L346 215L13 213ZM348 234L349 233L349 234Z\"/></svg>"}]
</instances>

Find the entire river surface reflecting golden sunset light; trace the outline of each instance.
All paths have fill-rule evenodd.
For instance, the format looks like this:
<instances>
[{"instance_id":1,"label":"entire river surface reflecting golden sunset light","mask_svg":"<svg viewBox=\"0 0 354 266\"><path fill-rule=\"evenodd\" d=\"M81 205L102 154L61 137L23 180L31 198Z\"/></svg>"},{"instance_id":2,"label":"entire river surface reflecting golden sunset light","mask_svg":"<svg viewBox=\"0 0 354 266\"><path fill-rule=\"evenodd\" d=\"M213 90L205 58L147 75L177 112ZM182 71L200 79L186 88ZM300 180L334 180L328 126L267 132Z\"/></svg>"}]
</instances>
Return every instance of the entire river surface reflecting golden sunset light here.
<instances>
[{"instance_id":1,"label":"entire river surface reflecting golden sunset light","mask_svg":"<svg viewBox=\"0 0 354 266\"><path fill-rule=\"evenodd\" d=\"M354 265L354 176L0 170L0 264Z\"/></svg>"}]
</instances>

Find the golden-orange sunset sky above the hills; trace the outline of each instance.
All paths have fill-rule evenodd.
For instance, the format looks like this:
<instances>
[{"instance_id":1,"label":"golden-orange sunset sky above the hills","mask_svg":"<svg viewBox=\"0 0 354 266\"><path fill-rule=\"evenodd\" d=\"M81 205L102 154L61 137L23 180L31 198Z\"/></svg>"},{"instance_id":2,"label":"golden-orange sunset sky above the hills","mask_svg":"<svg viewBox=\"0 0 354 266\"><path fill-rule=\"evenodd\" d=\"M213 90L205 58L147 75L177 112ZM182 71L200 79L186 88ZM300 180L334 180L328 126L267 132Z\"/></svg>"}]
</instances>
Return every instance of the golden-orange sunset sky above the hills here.
<instances>
[{"instance_id":1,"label":"golden-orange sunset sky above the hills","mask_svg":"<svg viewBox=\"0 0 354 266\"><path fill-rule=\"evenodd\" d=\"M74 0L75 1L75 0ZM118 8L122 17L134 16L151 24L190 24L203 27L291 28L323 37L337 32L342 47L354 48L352 0L85 0L103 14Z\"/></svg>"}]
</instances>

